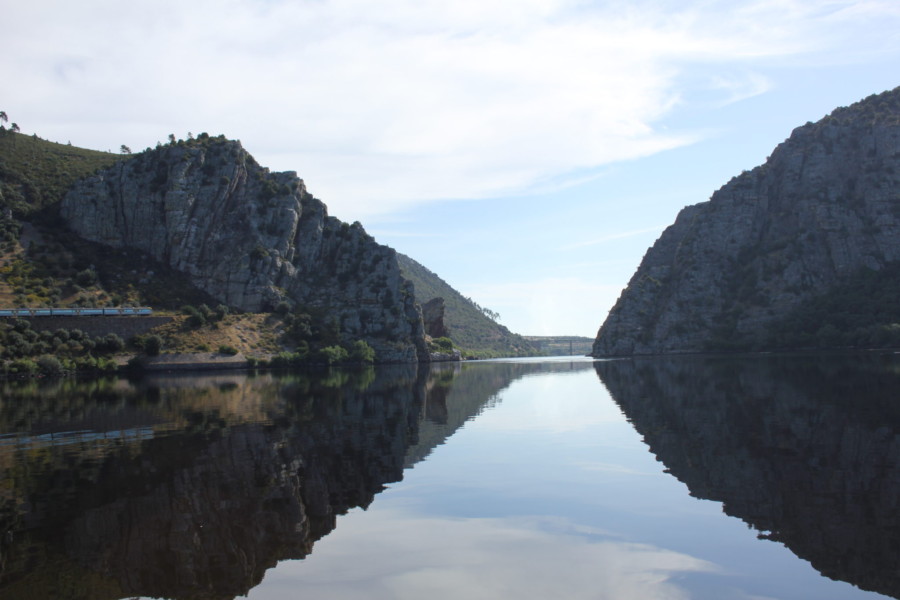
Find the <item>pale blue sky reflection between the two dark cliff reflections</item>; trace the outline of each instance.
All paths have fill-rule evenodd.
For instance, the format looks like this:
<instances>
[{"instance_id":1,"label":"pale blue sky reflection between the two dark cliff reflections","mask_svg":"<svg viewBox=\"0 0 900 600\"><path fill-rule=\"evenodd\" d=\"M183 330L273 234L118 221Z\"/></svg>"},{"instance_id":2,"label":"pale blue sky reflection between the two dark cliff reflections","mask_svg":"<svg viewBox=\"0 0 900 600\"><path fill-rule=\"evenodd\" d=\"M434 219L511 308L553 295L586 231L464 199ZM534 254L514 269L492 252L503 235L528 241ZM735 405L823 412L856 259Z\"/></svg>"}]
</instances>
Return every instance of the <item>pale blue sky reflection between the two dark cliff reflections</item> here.
<instances>
[{"instance_id":1,"label":"pale blue sky reflection between the two dark cliff reflections","mask_svg":"<svg viewBox=\"0 0 900 600\"><path fill-rule=\"evenodd\" d=\"M254 600L874 598L663 472L593 370L530 376Z\"/></svg>"}]
</instances>

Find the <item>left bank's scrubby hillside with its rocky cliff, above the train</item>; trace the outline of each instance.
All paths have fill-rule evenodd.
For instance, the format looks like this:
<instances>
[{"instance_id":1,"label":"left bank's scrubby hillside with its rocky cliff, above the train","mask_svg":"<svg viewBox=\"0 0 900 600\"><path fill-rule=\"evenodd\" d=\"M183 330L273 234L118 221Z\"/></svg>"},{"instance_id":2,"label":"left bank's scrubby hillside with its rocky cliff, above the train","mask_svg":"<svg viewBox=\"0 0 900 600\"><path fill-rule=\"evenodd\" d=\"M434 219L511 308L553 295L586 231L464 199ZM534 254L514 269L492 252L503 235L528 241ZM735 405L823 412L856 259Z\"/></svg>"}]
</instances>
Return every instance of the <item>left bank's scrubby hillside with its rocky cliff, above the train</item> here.
<instances>
[{"instance_id":1,"label":"left bank's scrubby hillside with its rocky cliff, above the train","mask_svg":"<svg viewBox=\"0 0 900 600\"><path fill-rule=\"evenodd\" d=\"M277 312L267 339L280 335L295 356L365 342L379 362L427 360L396 253L328 216L295 173L269 172L239 142L201 134L112 155L4 130L0 165L4 305ZM253 338L213 335L232 321L247 327L201 317L199 335L163 333L179 349Z\"/></svg>"}]
</instances>

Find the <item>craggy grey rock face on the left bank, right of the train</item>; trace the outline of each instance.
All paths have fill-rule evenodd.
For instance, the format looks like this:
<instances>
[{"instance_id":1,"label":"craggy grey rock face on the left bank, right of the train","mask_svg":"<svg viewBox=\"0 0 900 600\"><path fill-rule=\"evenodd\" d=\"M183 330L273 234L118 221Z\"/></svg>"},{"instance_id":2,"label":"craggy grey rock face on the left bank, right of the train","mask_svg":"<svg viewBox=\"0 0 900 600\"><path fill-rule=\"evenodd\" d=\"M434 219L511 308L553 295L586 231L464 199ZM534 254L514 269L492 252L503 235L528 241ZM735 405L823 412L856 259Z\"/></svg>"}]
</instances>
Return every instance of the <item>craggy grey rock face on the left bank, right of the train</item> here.
<instances>
[{"instance_id":1,"label":"craggy grey rock face on the left bank, right of the train","mask_svg":"<svg viewBox=\"0 0 900 600\"><path fill-rule=\"evenodd\" d=\"M379 360L427 355L396 252L329 217L296 173L270 173L239 142L147 150L76 184L61 215L82 237L141 250L229 306L325 308Z\"/></svg>"}]
</instances>

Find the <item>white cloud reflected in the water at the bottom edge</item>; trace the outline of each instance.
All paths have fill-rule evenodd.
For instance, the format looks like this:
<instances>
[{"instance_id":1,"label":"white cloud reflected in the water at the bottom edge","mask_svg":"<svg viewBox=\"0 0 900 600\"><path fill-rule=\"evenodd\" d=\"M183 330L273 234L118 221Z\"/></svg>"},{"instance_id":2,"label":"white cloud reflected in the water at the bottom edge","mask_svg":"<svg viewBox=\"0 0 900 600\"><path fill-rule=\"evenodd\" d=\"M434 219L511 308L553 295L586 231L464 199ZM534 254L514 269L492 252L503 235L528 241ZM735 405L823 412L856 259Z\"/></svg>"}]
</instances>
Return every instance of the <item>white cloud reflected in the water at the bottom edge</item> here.
<instances>
[{"instance_id":1,"label":"white cloud reflected in the water at the bottom edge","mask_svg":"<svg viewBox=\"0 0 900 600\"><path fill-rule=\"evenodd\" d=\"M672 600L688 597L679 577L718 571L692 556L611 539L564 519L401 518L390 511L356 511L338 525L311 557L280 564L249 597L321 591L348 599ZM353 566L351 577L345 576L347 565Z\"/></svg>"}]
</instances>

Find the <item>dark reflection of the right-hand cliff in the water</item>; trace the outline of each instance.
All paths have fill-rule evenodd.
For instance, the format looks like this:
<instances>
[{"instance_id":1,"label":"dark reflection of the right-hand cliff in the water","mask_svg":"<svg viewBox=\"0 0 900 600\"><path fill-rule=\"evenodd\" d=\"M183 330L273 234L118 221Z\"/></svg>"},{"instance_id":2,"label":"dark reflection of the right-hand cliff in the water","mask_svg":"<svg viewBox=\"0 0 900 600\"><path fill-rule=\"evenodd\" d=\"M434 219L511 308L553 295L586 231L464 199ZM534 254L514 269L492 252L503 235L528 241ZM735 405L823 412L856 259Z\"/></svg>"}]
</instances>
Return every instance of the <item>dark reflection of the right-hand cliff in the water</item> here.
<instances>
[{"instance_id":1,"label":"dark reflection of the right-hand cliff in the water","mask_svg":"<svg viewBox=\"0 0 900 600\"><path fill-rule=\"evenodd\" d=\"M658 358L596 363L691 494L823 575L900 597L900 360Z\"/></svg>"}]
</instances>

